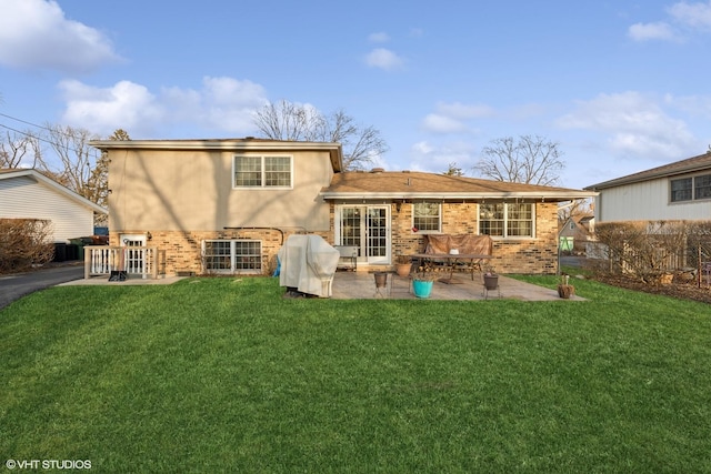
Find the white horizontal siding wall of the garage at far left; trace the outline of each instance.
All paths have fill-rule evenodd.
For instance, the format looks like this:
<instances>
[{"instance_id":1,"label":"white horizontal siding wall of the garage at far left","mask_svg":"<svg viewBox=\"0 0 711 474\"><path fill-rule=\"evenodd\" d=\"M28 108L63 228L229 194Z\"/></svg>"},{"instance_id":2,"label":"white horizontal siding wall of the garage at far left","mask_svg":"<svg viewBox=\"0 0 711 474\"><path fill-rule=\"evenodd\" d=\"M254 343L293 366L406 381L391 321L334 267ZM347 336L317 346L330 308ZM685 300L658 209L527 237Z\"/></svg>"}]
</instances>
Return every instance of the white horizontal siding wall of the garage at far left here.
<instances>
[{"instance_id":1,"label":"white horizontal siding wall of the garage at far left","mask_svg":"<svg viewBox=\"0 0 711 474\"><path fill-rule=\"evenodd\" d=\"M52 222L54 242L93 234L93 211L30 177L0 180L0 218Z\"/></svg>"}]
</instances>

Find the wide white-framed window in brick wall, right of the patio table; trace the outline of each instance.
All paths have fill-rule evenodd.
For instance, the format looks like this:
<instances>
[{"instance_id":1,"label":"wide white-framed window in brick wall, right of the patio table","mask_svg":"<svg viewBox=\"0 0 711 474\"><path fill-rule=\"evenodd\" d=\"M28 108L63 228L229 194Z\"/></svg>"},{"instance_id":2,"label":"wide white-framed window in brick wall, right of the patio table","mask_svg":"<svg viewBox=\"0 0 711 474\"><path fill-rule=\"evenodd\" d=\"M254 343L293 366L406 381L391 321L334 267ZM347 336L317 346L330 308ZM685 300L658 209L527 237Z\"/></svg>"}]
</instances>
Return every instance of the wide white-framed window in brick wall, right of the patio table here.
<instances>
[{"instance_id":1,"label":"wide white-framed window in brick wall, right of the patio table","mask_svg":"<svg viewBox=\"0 0 711 474\"><path fill-rule=\"evenodd\" d=\"M500 238L533 236L533 204L479 204L479 233Z\"/></svg>"}]
</instances>

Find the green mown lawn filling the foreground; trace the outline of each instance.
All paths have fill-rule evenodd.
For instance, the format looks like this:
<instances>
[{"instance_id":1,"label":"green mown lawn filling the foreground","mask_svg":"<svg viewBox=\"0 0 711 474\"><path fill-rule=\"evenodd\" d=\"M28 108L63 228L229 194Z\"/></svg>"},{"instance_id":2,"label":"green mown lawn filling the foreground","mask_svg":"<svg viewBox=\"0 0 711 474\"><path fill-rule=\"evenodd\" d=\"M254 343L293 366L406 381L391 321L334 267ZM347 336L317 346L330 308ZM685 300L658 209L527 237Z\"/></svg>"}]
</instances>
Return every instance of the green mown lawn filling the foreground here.
<instances>
[{"instance_id":1,"label":"green mown lawn filling the foreground","mask_svg":"<svg viewBox=\"0 0 711 474\"><path fill-rule=\"evenodd\" d=\"M709 305L574 284L588 302L284 300L274 279L42 291L0 311L0 462L711 472Z\"/></svg>"}]
</instances>

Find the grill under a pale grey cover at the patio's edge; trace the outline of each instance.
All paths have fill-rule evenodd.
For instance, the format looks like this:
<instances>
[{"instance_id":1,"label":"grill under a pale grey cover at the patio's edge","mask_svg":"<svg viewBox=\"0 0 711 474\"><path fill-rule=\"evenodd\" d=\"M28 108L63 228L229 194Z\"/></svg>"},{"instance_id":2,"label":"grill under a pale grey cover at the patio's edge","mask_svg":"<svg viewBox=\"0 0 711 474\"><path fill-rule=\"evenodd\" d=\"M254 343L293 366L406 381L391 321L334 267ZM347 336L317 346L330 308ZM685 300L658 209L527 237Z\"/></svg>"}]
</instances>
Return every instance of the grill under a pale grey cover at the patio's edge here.
<instances>
[{"instance_id":1,"label":"grill under a pale grey cover at the patio's edge","mask_svg":"<svg viewBox=\"0 0 711 474\"><path fill-rule=\"evenodd\" d=\"M331 296L331 282L341 256L320 235L290 235L279 249L279 285L320 297Z\"/></svg>"}]
</instances>

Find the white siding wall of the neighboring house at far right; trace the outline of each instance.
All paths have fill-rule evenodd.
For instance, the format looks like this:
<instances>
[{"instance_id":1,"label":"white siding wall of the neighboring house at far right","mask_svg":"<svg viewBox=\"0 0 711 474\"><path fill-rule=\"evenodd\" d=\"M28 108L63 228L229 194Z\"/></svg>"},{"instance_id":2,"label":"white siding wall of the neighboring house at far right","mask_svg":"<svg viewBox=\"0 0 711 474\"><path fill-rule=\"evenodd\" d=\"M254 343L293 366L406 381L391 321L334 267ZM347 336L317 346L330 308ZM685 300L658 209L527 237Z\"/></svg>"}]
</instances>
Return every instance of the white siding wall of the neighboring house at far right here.
<instances>
[{"instance_id":1,"label":"white siding wall of the neighboring house at far right","mask_svg":"<svg viewBox=\"0 0 711 474\"><path fill-rule=\"evenodd\" d=\"M669 196L668 179L605 189L595 198L595 220L621 222L711 219L711 201L672 203Z\"/></svg>"}]
</instances>

